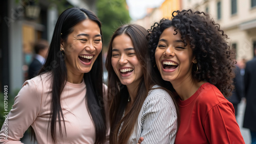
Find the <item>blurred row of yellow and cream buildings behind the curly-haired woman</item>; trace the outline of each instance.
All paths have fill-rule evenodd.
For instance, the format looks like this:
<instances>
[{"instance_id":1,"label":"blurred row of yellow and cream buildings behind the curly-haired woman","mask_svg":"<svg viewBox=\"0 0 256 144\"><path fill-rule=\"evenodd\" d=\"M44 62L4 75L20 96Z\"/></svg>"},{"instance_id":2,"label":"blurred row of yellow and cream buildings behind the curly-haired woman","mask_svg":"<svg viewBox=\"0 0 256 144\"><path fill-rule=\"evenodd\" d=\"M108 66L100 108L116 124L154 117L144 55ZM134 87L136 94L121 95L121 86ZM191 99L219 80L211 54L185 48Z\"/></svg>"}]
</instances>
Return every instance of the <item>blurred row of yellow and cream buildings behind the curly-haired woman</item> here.
<instances>
[{"instance_id":1,"label":"blurred row of yellow and cream buildings behind the curly-haired woman","mask_svg":"<svg viewBox=\"0 0 256 144\"><path fill-rule=\"evenodd\" d=\"M175 10L192 9L208 13L229 37L237 60L250 60L256 47L256 0L166 0L158 8L148 8L147 15L133 21L146 29Z\"/></svg>"}]
</instances>

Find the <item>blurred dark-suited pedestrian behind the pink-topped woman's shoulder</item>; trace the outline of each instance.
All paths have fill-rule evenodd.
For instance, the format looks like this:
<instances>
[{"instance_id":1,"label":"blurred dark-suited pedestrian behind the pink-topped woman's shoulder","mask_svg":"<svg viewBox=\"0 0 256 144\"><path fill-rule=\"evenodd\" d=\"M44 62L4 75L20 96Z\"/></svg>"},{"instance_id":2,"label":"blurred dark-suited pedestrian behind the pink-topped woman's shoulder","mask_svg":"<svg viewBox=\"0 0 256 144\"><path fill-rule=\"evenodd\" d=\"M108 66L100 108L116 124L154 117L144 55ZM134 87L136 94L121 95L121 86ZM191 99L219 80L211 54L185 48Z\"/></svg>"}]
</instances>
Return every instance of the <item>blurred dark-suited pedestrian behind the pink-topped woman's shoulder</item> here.
<instances>
[{"instance_id":1,"label":"blurred dark-suited pedestrian behind the pink-topped woman's shoulder","mask_svg":"<svg viewBox=\"0 0 256 144\"><path fill-rule=\"evenodd\" d=\"M47 40L41 39L34 45L34 59L29 65L29 79L38 75L42 65L45 64L45 59L48 53L49 43Z\"/></svg>"}]
</instances>

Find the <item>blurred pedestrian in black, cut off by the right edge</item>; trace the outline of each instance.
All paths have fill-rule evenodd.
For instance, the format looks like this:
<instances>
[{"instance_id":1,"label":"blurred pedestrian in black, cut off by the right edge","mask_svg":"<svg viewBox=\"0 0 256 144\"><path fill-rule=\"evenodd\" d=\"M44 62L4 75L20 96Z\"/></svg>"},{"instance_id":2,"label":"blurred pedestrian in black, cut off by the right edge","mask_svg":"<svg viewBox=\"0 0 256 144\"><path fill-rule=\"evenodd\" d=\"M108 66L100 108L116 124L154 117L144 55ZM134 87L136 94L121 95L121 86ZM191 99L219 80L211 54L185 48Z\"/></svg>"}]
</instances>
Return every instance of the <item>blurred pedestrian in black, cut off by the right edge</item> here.
<instances>
[{"instance_id":1,"label":"blurred pedestrian in black, cut off by the right edge","mask_svg":"<svg viewBox=\"0 0 256 144\"><path fill-rule=\"evenodd\" d=\"M253 51L256 55L256 47ZM246 63L244 86L246 108L243 127L250 129L251 143L256 143L256 56Z\"/></svg>"}]
</instances>

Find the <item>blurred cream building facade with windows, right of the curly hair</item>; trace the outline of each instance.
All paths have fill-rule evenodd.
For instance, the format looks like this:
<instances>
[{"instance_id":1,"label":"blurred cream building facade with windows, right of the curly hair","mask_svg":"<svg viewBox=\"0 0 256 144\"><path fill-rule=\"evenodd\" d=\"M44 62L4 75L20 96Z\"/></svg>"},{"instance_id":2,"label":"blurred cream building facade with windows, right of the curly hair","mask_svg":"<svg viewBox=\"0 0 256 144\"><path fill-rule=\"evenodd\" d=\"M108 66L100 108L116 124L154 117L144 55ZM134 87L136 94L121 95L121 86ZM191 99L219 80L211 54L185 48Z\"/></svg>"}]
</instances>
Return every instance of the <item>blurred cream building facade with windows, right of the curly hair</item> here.
<instances>
[{"instance_id":1,"label":"blurred cream building facade with windows, right of the curly hair","mask_svg":"<svg viewBox=\"0 0 256 144\"><path fill-rule=\"evenodd\" d=\"M182 9L210 14L228 35L237 60L253 58L256 46L256 0L182 0Z\"/></svg>"}]
</instances>

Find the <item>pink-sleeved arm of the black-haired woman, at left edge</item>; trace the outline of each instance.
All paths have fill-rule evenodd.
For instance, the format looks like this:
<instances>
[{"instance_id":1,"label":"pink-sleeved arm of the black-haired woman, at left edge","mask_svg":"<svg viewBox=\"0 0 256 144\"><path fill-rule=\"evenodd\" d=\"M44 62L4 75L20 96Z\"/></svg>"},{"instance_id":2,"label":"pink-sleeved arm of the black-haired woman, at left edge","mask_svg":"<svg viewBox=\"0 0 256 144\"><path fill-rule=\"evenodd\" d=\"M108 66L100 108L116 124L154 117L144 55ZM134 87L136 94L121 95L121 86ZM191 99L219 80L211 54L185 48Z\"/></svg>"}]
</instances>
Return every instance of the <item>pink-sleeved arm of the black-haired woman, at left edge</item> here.
<instances>
[{"instance_id":1,"label":"pink-sleeved arm of the black-haired woman, at left edge","mask_svg":"<svg viewBox=\"0 0 256 144\"><path fill-rule=\"evenodd\" d=\"M37 98L36 86L29 80L24 83L18 95L14 99L14 105L8 114L8 125L2 127L0 142L22 143L20 138L35 121L40 110L40 100ZM8 137L5 135L5 127L8 127Z\"/></svg>"}]
</instances>

